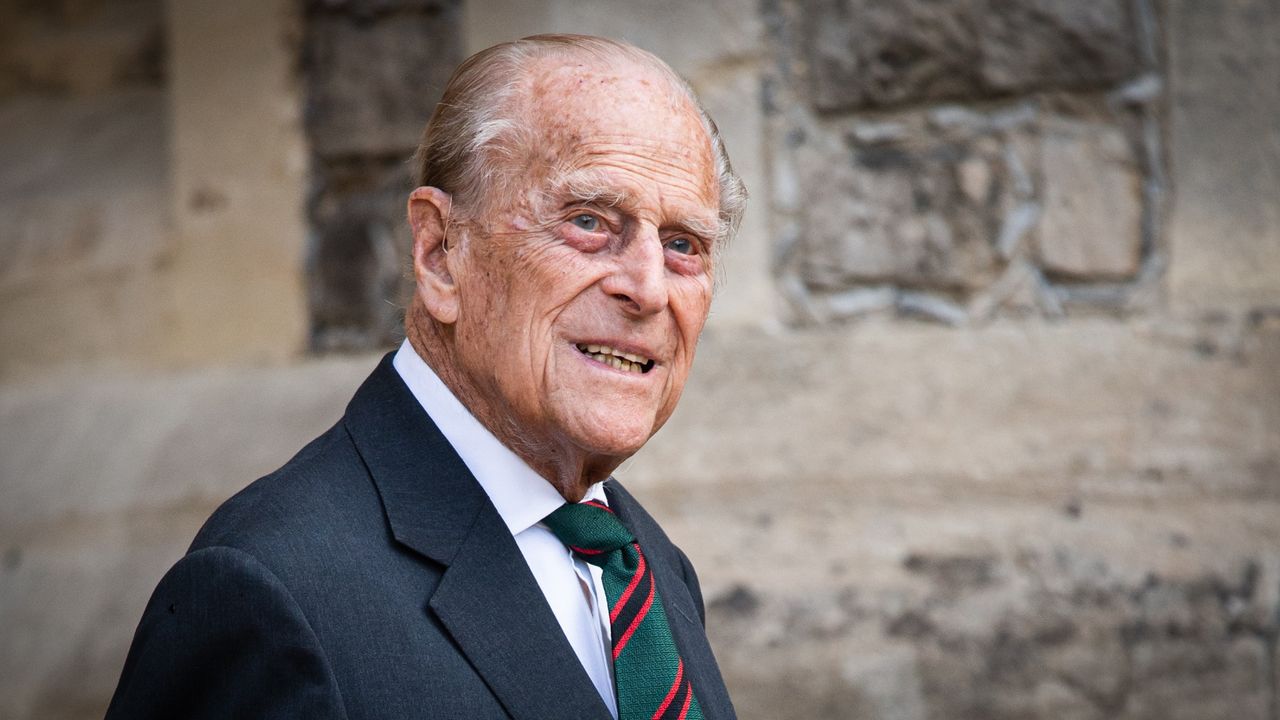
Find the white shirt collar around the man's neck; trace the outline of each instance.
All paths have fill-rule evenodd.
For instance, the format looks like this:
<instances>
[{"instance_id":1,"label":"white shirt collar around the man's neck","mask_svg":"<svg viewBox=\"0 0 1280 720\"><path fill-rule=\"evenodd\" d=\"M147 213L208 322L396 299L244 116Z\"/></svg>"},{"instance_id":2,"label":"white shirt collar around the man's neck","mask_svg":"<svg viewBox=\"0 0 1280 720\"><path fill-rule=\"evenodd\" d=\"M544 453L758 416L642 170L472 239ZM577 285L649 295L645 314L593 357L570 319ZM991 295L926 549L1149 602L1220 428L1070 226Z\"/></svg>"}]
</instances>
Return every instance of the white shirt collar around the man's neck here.
<instances>
[{"instance_id":1,"label":"white shirt collar around the man's neck","mask_svg":"<svg viewBox=\"0 0 1280 720\"><path fill-rule=\"evenodd\" d=\"M475 475L512 536L536 525L564 505L564 498L545 478L476 420L431 366L419 357L408 340L396 351L392 366ZM588 488L584 500L605 502L603 483Z\"/></svg>"}]
</instances>

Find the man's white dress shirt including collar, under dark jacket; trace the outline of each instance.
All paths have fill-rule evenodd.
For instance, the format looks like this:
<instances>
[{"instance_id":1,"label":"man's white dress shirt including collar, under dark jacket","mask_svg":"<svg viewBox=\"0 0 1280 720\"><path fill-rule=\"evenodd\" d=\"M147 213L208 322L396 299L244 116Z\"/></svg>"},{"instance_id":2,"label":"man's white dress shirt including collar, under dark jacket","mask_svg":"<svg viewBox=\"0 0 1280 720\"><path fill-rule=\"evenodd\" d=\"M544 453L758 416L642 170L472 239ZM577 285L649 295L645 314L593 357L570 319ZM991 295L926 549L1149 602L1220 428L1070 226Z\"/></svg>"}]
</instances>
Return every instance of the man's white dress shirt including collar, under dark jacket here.
<instances>
[{"instance_id":1,"label":"man's white dress shirt including collar, under dark jacket","mask_svg":"<svg viewBox=\"0 0 1280 720\"><path fill-rule=\"evenodd\" d=\"M407 340L401 343L392 366L498 509L564 637L604 705L617 717L605 610L609 603L600 569L576 557L541 523L564 503L564 498L471 415ZM608 502L600 483L591 486L584 500Z\"/></svg>"}]
</instances>

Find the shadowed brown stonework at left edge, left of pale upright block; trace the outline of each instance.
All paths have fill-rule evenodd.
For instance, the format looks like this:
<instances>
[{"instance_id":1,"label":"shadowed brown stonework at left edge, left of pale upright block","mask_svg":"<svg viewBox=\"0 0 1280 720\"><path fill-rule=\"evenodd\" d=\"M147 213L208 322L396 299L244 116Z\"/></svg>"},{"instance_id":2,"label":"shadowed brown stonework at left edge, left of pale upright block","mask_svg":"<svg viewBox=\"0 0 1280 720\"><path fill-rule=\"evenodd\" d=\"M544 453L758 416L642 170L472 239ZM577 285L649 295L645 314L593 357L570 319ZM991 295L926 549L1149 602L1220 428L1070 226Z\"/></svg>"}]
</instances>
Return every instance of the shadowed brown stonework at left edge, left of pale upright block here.
<instances>
[{"instance_id":1,"label":"shadowed brown stonework at left edge, left of pale upright block","mask_svg":"<svg viewBox=\"0 0 1280 720\"><path fill-rule=\"evenodd\" d=\"M160 9L0 4L0 377L155 347L169 258Z\"/></svg>"}]
</instances>

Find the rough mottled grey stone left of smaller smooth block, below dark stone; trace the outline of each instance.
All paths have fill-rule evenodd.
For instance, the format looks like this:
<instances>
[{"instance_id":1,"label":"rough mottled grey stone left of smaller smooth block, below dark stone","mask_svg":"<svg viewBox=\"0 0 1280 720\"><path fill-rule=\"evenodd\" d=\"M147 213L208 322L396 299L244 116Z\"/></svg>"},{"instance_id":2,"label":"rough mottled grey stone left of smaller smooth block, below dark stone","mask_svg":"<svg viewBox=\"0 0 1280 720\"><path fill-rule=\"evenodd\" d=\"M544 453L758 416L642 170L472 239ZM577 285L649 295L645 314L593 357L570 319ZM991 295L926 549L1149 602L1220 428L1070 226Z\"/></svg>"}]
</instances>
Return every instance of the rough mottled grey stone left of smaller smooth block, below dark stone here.
<instances>
[{"instance_id":1,"label":"rough mottled grey stone left of smaller smooth block, below dark stone","mask_svg":"<svg viewBox=\"0 0 1280 720\"><path fill-rule=\"evenodd\" d=\"M820 132L820 131L819 131ZM931 137L909 123L801 133L805 281L969 291L997 270L1001 210L1016 202L998 136Z\"/></svg>"}]
</instances>

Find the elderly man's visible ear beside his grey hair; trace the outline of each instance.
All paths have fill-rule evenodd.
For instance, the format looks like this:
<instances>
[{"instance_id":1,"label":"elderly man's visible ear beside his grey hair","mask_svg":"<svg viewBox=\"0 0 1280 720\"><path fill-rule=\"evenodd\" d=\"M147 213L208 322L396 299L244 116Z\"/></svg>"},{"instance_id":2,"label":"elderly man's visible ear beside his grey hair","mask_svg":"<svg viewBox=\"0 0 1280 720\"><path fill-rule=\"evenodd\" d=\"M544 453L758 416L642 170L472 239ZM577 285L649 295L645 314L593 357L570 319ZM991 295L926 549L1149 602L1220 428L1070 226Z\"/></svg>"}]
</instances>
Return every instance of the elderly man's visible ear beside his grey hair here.
<instances>
[{"instance_id":1,"label":"elderly man's visible ear beside his grey hair","mask_svg":"<svg viewBox=\"0 0 1280 720\"><path fill-rule=\"evenodd\" d=\"M447 238L452 197L435 187L420 187L408 195L408 225L413 228L413 292L438 322L458 319L458 287L449 272Z\"/></svg>"}]
</instances>

